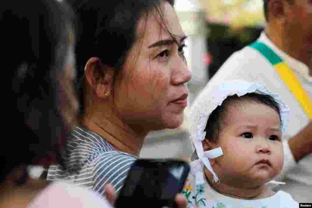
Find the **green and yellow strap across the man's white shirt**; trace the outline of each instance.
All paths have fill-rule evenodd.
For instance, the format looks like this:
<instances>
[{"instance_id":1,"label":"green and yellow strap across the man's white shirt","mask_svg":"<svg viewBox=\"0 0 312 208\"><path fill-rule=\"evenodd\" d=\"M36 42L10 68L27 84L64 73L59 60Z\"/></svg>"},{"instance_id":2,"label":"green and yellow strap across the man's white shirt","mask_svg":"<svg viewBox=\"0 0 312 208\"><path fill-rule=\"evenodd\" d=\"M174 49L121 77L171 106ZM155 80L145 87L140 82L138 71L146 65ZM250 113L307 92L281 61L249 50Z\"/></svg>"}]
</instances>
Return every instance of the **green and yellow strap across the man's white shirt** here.
<instances>
[{"instance_id":1,"label":"green and yellow strap across the man's white shirt","mask_svg":"<svg viewBox=\"0 0 312 208\"><path fill-rule=\"evenodd\" d=\"M280 75L280 78L284 81L290 92L300 104L301 108L305 111L310 120L312 120L312 101L310 96L302 87L300 81L290 67L264 43L256 41L249 46L259 51L270 61L276 72Z\"/></svg>"}]
</instances>

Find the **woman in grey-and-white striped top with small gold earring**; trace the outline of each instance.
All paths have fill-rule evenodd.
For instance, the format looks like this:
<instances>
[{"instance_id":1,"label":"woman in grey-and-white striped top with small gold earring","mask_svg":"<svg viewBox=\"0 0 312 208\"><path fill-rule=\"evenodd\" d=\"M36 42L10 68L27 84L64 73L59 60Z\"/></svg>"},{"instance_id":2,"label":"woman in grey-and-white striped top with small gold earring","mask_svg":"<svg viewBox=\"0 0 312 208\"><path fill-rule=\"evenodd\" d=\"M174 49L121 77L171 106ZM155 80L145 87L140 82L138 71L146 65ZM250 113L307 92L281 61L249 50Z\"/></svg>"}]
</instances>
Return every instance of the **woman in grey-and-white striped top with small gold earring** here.
<instances>
[{"instance_id":1,"label":"woman in grey-and-white striped top with small gold earring","mask_svg":"<svg viewBox=\"0 0 312 208\"><path fill-rule=\"evenodd\" d=\"M66 179L104 194L118 192L150 131L183 122L191 79L183 55L187 37L173 0L90 0L80 15L77 63L83 100L64 154L68 170L51 166L48 179Z\"/></svg>"}]
</instances>

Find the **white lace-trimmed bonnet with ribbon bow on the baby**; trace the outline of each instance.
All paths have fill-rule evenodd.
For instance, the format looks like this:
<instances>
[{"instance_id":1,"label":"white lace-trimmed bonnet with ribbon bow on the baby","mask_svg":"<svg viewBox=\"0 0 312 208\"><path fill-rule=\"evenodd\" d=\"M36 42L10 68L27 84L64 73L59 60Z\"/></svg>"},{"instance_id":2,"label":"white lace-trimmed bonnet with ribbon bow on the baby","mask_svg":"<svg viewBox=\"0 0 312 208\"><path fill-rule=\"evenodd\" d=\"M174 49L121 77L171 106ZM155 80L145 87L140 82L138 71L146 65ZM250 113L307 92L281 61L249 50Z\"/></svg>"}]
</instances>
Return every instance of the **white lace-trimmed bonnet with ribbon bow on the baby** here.
<instances>
[{"instance_id":1,"label":"white lace-trimmed bonnet with ribbon bow on the baby","mask_svg":"<svg viewBox=\"0 0 312 208\"><path fill-rule=\"evenodd\" d=\"M219 179L209 162L209 158L216 158L223 155L222 148L215 148L209 151L203 151L202 141L205 139L206 132L204 131L207 125L208 117L218 105L221 105L223 100L228 96L237 94L242 96L247 93L259 93L271 95L280 107L281 129L282 133L285 131L287 125L287 117L289 108L285 105L280 97L270 92L260 83L249 83L242 80L233 80L221 83L220 85L208 85L199 94L194 101L190 111L190 139L193 144L194 152L191 155L191 174L195 177L196 184L204 183L203 167L213 175L213 181L217 182ZM272 181L272 183L280 183Z\"/></svg>"}]
</instances>

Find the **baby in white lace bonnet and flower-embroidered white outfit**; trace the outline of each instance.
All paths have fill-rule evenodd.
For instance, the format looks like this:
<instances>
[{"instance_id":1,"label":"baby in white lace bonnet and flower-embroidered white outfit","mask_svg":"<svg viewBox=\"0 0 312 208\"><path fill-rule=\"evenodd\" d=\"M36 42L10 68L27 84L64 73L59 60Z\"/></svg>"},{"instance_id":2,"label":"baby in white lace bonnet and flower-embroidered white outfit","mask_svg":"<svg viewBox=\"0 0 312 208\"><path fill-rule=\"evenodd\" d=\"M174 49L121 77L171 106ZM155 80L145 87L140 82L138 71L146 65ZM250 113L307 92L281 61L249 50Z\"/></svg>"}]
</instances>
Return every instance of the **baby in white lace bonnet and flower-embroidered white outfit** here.
<instances>
[{"instance_id":1,"label":"baby in white lace bonnet and flower-embroidered white outfit","mask_svg":"<svg viewBox=\"0 0 312 208\"><path fill-rule=\"evenodd\" d=\"M208 86L194 102L191 176L183 189L188 207L297 208L268 183L282 170L282 133L288 107L259 83Z\"/></svg>"}]
</instances>

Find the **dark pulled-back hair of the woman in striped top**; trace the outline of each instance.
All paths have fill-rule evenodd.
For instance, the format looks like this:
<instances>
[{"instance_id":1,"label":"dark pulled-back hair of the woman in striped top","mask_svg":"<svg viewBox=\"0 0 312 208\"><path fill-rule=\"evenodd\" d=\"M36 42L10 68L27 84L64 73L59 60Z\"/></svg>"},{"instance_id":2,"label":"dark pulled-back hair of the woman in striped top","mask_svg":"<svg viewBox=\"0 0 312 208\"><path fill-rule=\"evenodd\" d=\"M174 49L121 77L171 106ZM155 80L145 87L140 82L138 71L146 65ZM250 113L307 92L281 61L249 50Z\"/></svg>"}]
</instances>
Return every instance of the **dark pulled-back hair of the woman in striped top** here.
<instances>
[{"instance_id":1,"label":"dark pulled-back hair of the woman in striped top","mask_svg":"<svg viewBox=\"0 0 312 208\"><path fill-rule=\"evenodd\" d=\"M153 11L163 17L162 2L174 5L174 0L69 0L76 16L77 82L80 115L84 109L84 67L91 57L98 57L102 64L114 68L115 77L123 68L129 50L137 40L137 25ZM164 22L163 22L164 23ZM165 26L166 27L166 26ZM168 31L168 30L167 30ZM173 35L169 32L173 37ZM155 34L157 35L157 34ZM176 40L173 38L173 40ZM105 72L99 72L100 75Z\"/></svg>"}]
</instances>

